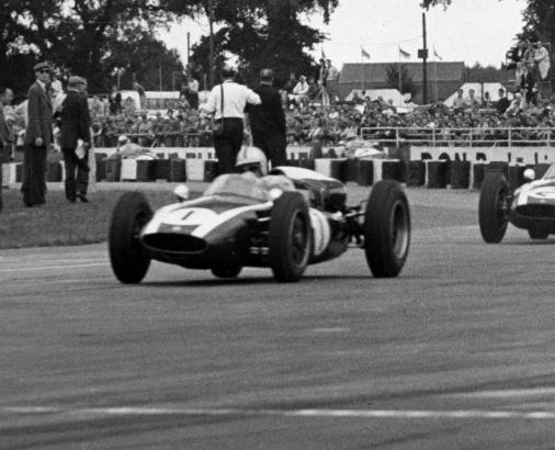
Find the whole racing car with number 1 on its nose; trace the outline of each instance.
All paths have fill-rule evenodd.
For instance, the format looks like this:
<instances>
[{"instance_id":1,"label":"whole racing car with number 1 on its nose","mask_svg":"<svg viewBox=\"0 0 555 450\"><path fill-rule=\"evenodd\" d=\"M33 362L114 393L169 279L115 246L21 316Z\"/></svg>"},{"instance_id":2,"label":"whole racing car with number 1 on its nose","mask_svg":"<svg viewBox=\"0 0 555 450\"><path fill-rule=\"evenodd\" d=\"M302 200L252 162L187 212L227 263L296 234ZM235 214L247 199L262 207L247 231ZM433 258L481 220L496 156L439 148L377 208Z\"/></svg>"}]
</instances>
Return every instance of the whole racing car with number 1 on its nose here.
<instances>
[{"instance_id":1,"label":"whole racing car with number 1 on its nose","mask_svg":"<svg viewBox=\"0 0 555 450\"><path fill-rule=\"evenodd\" d=\"M235 278L243 267L267 267L279 282L299 280L308 265L364 250L374 277L396 277L410 245L410 211L400 184L375 183L367 201L348 206L340 181L298 167L272 171L292 190L263 189L239 173L217 177L190 200L175 188L177 203L152 214L146 196L126 192L116 202L109 230L113 272L123 283L143 280L150 261L211 270Z\"/></svg>"}]
</instances>

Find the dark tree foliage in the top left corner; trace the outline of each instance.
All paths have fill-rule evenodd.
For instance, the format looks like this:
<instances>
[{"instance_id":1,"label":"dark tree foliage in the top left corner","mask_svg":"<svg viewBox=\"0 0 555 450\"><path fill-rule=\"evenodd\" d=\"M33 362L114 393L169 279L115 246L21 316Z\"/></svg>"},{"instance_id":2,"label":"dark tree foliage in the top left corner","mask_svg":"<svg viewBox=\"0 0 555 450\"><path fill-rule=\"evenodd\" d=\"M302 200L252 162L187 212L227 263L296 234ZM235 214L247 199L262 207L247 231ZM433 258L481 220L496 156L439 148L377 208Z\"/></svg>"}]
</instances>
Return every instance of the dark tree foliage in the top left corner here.
<instances>
[{"instance_id":1,"label":"dark tree foliage in the top left corner","mask_svg":"<svg viewBox=\"0 0 555 450\"><path fill-rule=\"evenodd\" d=\"M129 66L132 60L149 65L171 60L172 68L180 65L163 44L147 38L171 16L161 2L2 0L0 7L0 64L8 68L0 74L0 82L20 93L26 91L31 67L39 58L67 72L87 76L91 91L105 90L115 67L135 69L136 64ZM156 59L151 58L152 45ZM26 64L16 66L14 58Z\"/></svg>"}]
</instances>

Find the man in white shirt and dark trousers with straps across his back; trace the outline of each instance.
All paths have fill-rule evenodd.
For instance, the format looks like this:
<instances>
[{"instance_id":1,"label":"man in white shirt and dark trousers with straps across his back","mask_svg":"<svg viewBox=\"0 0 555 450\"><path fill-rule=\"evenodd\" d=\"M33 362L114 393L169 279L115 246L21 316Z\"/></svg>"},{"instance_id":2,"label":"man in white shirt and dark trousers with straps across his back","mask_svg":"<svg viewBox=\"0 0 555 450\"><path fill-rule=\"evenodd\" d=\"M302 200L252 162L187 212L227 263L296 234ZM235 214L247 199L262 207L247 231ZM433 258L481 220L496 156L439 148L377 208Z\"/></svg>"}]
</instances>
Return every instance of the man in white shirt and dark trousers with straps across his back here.
<instances>
[{"instance_id":1,"label":"man in white shirt and dark trousers with straps across his back","mask_svg":"<svg viewBox=\"0 0 555 450\"><path fill-rule=\"evenodd\" d=\"M205 110L214 113L216 124L223 124L220 134L214 133L214 148L218 158L219 173L230 173L235 169L235 159L241 149L245 132L245 106L260 104L260 97L234 81L235 69L222 69L222 85L216 85L209 95ZM224 94L224 109L222 111L222 93Z\"/></svg>"}]
</instances>

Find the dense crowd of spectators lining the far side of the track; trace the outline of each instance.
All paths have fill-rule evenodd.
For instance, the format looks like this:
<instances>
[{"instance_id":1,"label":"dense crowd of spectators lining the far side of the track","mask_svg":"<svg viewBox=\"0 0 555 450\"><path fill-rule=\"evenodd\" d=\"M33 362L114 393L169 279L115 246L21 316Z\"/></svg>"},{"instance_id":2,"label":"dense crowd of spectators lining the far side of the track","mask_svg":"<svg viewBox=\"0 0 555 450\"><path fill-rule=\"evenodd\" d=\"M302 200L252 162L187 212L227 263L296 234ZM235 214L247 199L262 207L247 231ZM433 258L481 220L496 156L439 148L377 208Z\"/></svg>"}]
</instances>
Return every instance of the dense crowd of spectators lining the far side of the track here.
<instances>
[{"instance_id":1,"label":"dense crowd of spectators lining the far side of the track","mask_svg":"<svg viewBox=\"0 0 555 450\"><path fill-rule=\"evenodd\" d=\"M322 67L326 64L322 59ZM512 140L555 137L552 136L555 97L541 98L536 93L526 101L519 87L513 93L500 89L496 102L490 100L489 92L477 97L472 89L467 92L460 89L451 104L438 101L407 111L390 99L355 95L352 101L340 101L337 87L327 88L337 81L336 75L330 79L321 68L318 74L298 78L292 74L281 90L288 146L332 146L356 137L428 142L431 135L440 142L468 138L478 143L507 142L509 128ZM135 83L134 88L140 93L140 85ZM93 145L116 147L118 137L126 135L146 148L211 147L212 122L199 108L197 90L197 81L190 77L179 99L167 100L167 109L148 112L137 108L132 98L122 99L115 87L109 95L90 95ZM50 83L49 93L56 109L60 103L57 99L64 93L57 78ZM15 148L24 144L25 108L25 102L4 105L4 116L14 131Z\"/></svg>"}]
</instances>

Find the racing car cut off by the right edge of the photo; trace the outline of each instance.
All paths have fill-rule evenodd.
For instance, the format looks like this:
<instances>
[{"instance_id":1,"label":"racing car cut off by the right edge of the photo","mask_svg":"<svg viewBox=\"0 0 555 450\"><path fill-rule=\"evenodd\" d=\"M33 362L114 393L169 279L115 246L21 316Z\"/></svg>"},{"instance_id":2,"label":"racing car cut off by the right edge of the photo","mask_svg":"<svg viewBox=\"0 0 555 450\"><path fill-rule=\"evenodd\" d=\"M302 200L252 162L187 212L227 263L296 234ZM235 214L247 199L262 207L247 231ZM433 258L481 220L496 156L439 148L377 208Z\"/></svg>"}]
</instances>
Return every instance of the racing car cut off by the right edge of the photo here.
<instances>
[{"instance_id":1,"label":"racing car cut off by the right edge of the photo","mask_svg":"<svg viewBox=\"0 0 555 450\"><path fill-rule=\"evenodd\" d=\"M486 173L478 205L479 229L486 243L500 243L509 223L528 229L532 239L555 234L555 164L537 180L529 168L524 179L526 182L511 192L500 171Z\"/></svg>"}]
</instances>

